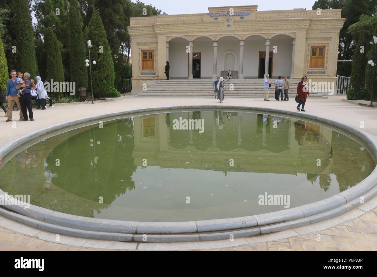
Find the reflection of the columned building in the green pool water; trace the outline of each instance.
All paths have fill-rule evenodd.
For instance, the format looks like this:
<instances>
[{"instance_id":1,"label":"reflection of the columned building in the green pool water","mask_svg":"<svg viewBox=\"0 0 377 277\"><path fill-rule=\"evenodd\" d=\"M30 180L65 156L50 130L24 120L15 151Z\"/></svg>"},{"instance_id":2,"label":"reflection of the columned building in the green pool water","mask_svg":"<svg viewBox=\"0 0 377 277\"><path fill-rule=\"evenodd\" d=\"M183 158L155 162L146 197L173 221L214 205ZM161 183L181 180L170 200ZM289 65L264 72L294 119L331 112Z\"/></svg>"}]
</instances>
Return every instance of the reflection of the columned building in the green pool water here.
<instances>
[{"instance_id":1,"label":"reflection of the columned building in the green pool water","mask_svg":"<svg viewBox=\"0 0 377 277\"><path fill-rule=\"evenodd\" d=\"M204 132L174 130L171 122L179 117L204 119ZM303 126L298 134L295 120L222 111L160 113L134 121L137 166L147 159L148 165L163 168L305 173L310 178L328 174L332 131L316 124L299 122ZM226 166L230 159L234 166Z\"/></svg>"}]
</instances>

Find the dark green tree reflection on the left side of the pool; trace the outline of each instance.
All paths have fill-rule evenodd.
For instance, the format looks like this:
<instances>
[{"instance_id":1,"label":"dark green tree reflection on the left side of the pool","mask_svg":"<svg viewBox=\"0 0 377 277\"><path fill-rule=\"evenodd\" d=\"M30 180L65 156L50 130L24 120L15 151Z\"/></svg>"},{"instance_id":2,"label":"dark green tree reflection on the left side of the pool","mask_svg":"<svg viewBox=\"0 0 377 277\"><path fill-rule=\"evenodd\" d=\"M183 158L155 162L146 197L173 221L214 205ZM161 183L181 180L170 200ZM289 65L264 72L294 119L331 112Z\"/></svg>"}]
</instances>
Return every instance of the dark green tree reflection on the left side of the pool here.
<instances>
[{"instance_id":1,"label":"dark green tree reflection on the left side of the pool","mask_svg":"<svg viewBox=\"0 0 377 277\"><path fill-rule=\"evenodd\" d=\"M133 140L131 118L106 122L103 129L96 125L57 145L46 159L46 170L56 174L52 183L63 190L97 203L102 196L104 204L111 204L135 188ZM57 158L60 166L55 166Z\"/></svg>"}]
</instances>

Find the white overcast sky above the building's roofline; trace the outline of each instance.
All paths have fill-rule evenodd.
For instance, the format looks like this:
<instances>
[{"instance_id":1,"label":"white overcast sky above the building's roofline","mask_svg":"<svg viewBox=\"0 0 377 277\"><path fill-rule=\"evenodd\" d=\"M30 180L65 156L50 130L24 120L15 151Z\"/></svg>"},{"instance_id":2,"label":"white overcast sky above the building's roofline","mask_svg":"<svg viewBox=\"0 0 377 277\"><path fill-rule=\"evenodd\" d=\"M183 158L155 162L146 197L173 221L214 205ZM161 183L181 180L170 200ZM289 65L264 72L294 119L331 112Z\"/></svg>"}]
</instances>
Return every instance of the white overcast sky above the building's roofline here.
<instances>
[{"instance_id":1,"label":"white overcast sky above the building's roofline","mask_svg":"<svg viewBox=\"0 0 377 277\"><path fill-rule=\"evenodd\" d=\"M311 10L315 0L144 0L143 2L145 4L155 6L157 9L160 9L161 13L165 12L167 14L201 14L204 12L208 12L208 7L247 5L257 5L258 11L275 11L298 8L307 8L307 10Z\"/></svg>"}]
</instances>

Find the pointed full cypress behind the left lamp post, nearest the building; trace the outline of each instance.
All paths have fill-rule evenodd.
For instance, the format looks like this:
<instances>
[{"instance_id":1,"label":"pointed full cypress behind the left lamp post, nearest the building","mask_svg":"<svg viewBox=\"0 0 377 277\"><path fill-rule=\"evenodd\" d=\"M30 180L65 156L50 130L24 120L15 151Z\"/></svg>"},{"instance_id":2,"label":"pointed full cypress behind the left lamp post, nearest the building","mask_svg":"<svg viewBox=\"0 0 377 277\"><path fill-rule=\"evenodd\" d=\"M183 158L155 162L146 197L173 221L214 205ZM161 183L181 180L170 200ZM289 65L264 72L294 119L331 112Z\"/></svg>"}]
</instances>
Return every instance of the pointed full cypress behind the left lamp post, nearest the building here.
<instances>
[{"instance_id":1,"label":"pointed full cypress behind the left lamp post, nearest the building","mask_svg":"<svg viewBox=\"0 0 377 277\"><path fill-rule=\"evenodd\" d=\"M100 13L96 9L93 9L85 33L87 40L93 45L90 57L97 62L95 65L92 64L93 93L98 97L106 97L114 87L114 63Z\"/></svg>"}]
</instances>

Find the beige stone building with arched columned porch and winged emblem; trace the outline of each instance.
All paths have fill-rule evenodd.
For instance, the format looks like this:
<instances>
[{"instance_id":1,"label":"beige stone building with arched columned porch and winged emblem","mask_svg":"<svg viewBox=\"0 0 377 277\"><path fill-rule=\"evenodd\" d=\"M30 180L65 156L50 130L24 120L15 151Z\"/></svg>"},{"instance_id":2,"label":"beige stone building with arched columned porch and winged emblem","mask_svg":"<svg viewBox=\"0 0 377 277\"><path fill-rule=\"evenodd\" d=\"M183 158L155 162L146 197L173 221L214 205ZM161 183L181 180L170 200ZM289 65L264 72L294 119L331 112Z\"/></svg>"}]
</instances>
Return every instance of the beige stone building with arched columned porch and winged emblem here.
<instances>
[{"instance_id":1,"label":"beige stone building with arched columned porch and winged emblem","mask_svg":"<svg viewBox=\"0 0 377 277\"><path fill-rule=\"evenodd\" d=\"M238 80L269 73L335 82L345 20L341 9L257 11L257 6L130 18L132 87L166 79L166 61L170 79L214 79L231 70Z\"/></svg>"}]
</instances>

